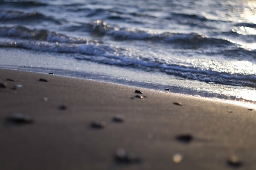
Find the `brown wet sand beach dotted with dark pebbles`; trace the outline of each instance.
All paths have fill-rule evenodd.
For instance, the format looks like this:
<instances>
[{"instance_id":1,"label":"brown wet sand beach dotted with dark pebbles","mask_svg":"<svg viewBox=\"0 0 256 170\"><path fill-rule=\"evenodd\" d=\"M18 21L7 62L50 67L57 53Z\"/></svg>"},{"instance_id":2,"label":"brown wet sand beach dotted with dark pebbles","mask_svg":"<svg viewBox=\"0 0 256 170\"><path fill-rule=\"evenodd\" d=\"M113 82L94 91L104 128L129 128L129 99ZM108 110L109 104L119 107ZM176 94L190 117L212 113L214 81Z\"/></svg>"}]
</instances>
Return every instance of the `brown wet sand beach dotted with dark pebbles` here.
<instances>
[{"instance_id":1,"label":"brown wet sand beach dotted with dark pebbles","mask_svg":"<svg viewBox=\"0 0 256 170\"><path fill-rule=\"evenodd\" d=\"M0 83L0 170L256 167L254 108L48 73Z\"/></svg>"}]
</instances>

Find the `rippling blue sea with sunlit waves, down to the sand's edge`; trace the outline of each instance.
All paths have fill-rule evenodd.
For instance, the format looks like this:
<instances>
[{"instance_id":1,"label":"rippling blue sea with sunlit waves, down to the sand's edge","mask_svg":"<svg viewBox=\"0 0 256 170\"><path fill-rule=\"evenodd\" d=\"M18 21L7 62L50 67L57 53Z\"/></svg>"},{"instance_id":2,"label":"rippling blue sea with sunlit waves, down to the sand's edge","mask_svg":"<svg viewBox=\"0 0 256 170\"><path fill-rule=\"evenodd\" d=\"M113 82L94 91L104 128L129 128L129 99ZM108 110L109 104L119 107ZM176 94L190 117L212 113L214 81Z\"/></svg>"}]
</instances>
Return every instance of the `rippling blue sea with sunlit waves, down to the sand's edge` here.
<instances>
[{"instance_id":1,"label":"rippling blue sea with sunlit waves, down to the sand's edge","mask_svg":"<svg viewBox=\"0 0 256 170\"><path fill-rule=\"evenodd\" d=\"M0 58L256 102L256 2L0 0Z\"/></svg>"}]
</instances>

